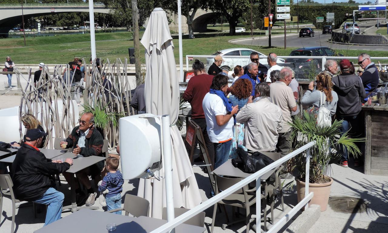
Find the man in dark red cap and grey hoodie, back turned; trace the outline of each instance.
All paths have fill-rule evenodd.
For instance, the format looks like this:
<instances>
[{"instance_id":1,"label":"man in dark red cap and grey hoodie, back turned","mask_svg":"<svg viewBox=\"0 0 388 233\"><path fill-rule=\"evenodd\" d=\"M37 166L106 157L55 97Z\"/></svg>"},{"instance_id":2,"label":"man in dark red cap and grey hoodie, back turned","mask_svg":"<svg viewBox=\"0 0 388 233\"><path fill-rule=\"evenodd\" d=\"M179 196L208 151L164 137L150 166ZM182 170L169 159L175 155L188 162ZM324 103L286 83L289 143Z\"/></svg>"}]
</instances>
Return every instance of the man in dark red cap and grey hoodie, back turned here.
<instances>
[{"instance_id":1,"label":"man in dark red cap and grey hoodie, back turned","mask_svg":"<svg viewBox=\"0 0 388 233\"><path fill-rule=\"evenodd\" d=\"M333 90L338 95L336 118L343 120L341 134L349 131L352 138L361 137L363 134L362 119L359 119L362 100L365 98L365 89L362 81L356 74L350 74L351 64L348 59L340 61L341 74L333 77ZM362 150L361 150L362 151ZM342 158L338 164L348 167L349 155L345 147L341 147ZM359 162L355 160L355 167Z\"/></svg>"}]
</instances>

